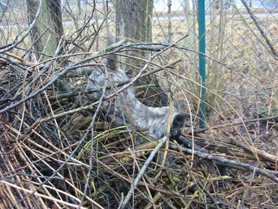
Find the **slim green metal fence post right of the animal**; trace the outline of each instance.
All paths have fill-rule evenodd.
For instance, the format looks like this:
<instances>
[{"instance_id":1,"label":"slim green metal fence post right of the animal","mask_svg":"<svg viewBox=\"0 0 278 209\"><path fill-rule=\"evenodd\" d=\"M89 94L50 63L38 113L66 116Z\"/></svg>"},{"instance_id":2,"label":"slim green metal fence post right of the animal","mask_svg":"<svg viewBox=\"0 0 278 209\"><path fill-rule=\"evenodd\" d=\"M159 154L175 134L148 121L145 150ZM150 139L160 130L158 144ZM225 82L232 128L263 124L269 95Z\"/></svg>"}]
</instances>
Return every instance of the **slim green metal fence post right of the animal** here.
<instances>
[{"instance_id":1,"label":"slim green metal fence post right of the animal","mask_svg":"<svg viewBox=\"0 0 278 209\"><path fill-rule=\"evenodd\" d=\"M198 0L199 73L200 73L200 128L205 128L206 61L205 61L205 0Z\"/></svg>"}]
</instances>

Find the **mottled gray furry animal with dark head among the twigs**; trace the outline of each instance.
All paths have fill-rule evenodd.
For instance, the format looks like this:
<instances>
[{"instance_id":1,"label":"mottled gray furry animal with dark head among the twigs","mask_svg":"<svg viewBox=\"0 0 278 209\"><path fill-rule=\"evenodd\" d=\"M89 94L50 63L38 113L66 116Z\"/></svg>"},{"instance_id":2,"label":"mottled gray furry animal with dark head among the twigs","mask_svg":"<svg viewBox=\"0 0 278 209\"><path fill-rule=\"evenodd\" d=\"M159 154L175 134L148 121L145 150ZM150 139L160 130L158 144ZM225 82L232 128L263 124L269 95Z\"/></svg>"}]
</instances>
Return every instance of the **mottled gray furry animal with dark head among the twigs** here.
<instances>
[{"instance_id":1,"label":"mottled gray furry animal with dark head among the twigs","mask_svg":"<svg viewBox=\"0 0 278 209\"><path fill-rule=\"evenodd\" d=\"M111 54L107 58L106 69L108 71L108 86L111 89L106 89L106 95L114 93L117 88L114 86L129 80L126 73L117 66L116 56ZM99 89L105 85L105 67L96 67L89 76L86 89ZM101 92L90 94L93 98L100 98ZM110 100L102 102L102 108L106 111L108 117L115 126L121 126L126 123L132 124L143 132L146 132L149 137L158 140L166 134L167 118L169 107L147 107L142 104L136 97L132 86L121 91L117 96ZM171 137L176 138L181 134L186 120L186 115L178 113L178 109L174 107L172 115Z\"/></svg>"}]
</instances>

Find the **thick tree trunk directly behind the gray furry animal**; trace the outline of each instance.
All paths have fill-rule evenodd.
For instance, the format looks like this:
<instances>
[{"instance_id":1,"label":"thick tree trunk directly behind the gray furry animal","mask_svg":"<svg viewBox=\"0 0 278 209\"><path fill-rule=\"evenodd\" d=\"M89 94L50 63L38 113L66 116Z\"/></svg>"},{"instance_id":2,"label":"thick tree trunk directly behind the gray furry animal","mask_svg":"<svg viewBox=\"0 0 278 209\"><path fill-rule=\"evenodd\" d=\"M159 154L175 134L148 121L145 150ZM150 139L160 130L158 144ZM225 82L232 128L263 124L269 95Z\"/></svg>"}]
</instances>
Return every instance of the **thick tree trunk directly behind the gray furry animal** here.
<instances>
[{"instance_id":1,"label":"thick tree trunk directly behind the gray furry animal","mask_svg":"<svg viewBox=\"0 0 278 209\"><path fill-rule=\"evenodd\" d=\"M133 39L136 41L151 42L152 41L152 8L153 0L117 0L116 1L116 36L118 39ZM146 58L143 52L127 52L129 56ZM135 58L121 57L121 62L127 65L122 65L121 69L126 72L137 73L145 64ZM130 67L130 65L132 67ZM145 96L157 94L155 103L157 106L167 104L167 96L159 87L159 82L156 78L149 76L141 80L142 83L150 84L151 81L156 85L156 92L145 91ZM138 83L137 83L138 84ZM157 92L159 91L159 92Z\"/></svg>"}]
</instances>

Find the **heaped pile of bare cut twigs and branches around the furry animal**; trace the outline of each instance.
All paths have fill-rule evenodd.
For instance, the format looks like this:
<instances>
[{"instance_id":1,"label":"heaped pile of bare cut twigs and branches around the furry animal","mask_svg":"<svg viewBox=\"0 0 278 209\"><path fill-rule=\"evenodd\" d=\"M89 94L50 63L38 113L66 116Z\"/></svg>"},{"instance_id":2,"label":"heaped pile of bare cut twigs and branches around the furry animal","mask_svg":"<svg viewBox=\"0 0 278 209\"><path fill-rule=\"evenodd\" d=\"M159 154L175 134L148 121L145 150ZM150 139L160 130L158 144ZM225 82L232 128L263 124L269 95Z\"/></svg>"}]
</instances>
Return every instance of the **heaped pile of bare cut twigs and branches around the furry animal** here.
<instances>
[{"instance_id":1,"label":"heaped pile of bare cut twigs and branches around the furry animal","mask_svg":"<svg viewBox=\"0 0 278 209\"><path fill-rule=\"evenodd\" d=\"M161 81L166 75L170 86L181 88L176 95L186 86L173 80L196 85L175 72L181 59L166 61L175 44L121 41L69 64L65 56L42 63L1 56L0 208L277 207L277 115L236 122L219 117L218 124L207 123L208 129L194 129L197 117L190 104L183 109L190 120L179 142L148 140L106 121L101 101L88 98L101 89L85 89L86 77L91 67L102 65L95 58L128 47L148 48L163 61L163 66L159 59L148 61L150 70L134 78L153 75ZM135 83L134 78L117 87ZM255 122L266 121L272 131L267 148L266 136L254 143L249 132ZM146 143L138 145L138 135Z\"/></svg>"}]
</instances>

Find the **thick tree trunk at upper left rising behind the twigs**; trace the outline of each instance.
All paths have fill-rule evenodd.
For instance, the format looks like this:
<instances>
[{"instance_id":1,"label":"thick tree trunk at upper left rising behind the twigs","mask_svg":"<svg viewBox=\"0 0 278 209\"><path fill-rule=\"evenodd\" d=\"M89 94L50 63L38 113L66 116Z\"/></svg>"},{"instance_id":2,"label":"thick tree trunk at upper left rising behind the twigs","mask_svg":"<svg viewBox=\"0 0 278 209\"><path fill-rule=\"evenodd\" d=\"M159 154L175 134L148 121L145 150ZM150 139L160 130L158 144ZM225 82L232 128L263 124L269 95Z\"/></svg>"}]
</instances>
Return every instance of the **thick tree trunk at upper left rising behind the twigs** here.
<instances>
[{"instance_id":1,"label":"thick tree trunk at upper left rising behind the twigs","mask_svg":"<svg viewBox=\"0 0 278 209\"><path fill-rule=\"evenodd\" d=\"M27 14L30 23L35 17L38 2L38 0L27 0ZM60 38L64 34L60 5L60 0L43 0L40 15L31 33L34 48L38 52L37 58L46 59L47 56L53 56ZM44 55L41 56L41 54Z\"/></svg>"}]
</instances>

